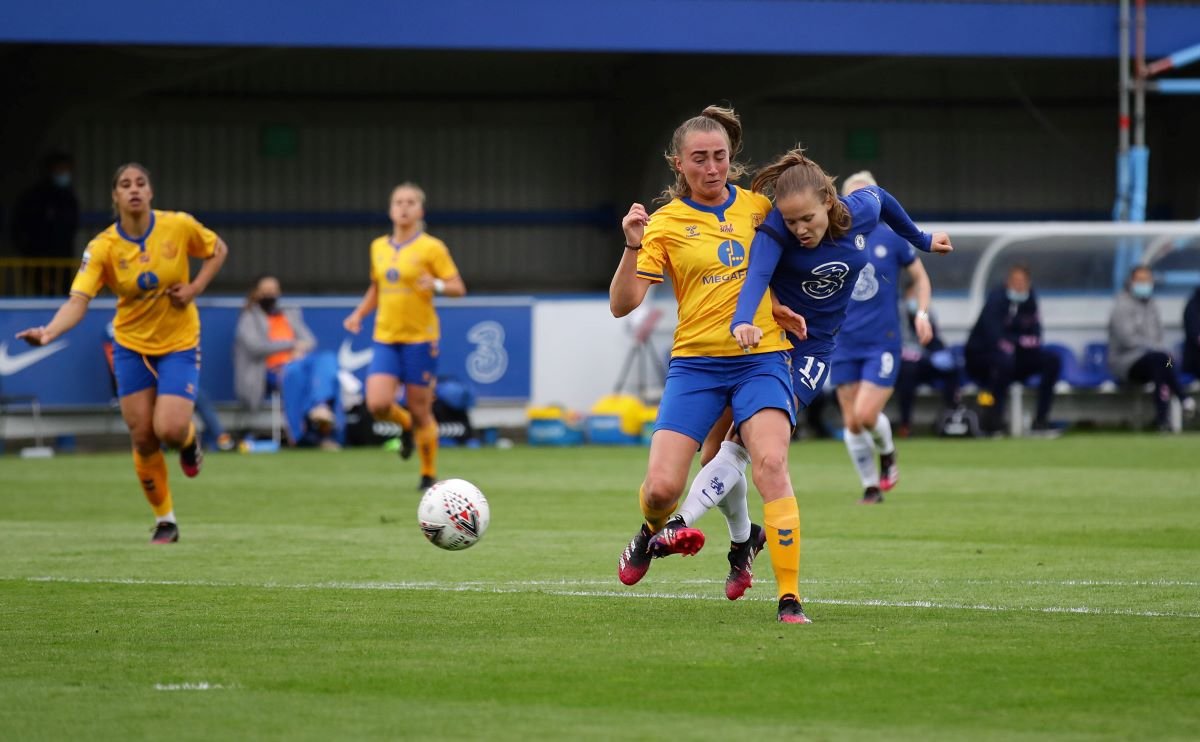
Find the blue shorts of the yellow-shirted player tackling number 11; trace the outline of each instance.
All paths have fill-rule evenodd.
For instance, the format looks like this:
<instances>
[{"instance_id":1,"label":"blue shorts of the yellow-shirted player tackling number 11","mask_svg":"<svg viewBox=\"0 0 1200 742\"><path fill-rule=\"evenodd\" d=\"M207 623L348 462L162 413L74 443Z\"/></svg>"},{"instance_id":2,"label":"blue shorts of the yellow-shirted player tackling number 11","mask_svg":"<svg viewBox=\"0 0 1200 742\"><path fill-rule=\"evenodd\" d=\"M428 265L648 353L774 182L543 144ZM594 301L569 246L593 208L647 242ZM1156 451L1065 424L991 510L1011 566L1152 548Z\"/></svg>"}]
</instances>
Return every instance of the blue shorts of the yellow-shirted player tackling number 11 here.
<instances>
[{"instance_id":1,"label":"blue shorts of the yellow-shirted player tackling number 11","mask_svg":"<svg viewBox=\"0 0 1200 742\"><path fill-rule=\"evenodd\" d=\"M733 407L734 425L761 409L776 408L794 426L787 353L672 358L654 430L683 433L700 445L726 407Z\"/></svg>"}]
</instances>

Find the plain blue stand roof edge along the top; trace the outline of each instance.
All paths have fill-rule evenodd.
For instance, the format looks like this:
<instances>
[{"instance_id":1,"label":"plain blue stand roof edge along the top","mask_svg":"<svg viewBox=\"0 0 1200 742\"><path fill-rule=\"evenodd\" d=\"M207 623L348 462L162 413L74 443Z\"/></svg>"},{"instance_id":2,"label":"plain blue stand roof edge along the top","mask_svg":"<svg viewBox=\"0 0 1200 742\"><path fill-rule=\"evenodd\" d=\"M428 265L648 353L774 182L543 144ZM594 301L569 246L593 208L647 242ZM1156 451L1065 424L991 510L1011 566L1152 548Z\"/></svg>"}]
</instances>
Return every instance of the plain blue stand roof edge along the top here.
<instances>
[{"instance_id":1,"label":"plain blue stand roof edge along the top","mask_svg":"<svg viewBox=\"0 0 1200 742\"><path fill-rule=\"evenodd\" d=\"M1147 52L1200 4L1152 2ZM1117 4L930 0L58 0L0 7L0 43L1115 58Z\"/></svg>"}]
</instances>

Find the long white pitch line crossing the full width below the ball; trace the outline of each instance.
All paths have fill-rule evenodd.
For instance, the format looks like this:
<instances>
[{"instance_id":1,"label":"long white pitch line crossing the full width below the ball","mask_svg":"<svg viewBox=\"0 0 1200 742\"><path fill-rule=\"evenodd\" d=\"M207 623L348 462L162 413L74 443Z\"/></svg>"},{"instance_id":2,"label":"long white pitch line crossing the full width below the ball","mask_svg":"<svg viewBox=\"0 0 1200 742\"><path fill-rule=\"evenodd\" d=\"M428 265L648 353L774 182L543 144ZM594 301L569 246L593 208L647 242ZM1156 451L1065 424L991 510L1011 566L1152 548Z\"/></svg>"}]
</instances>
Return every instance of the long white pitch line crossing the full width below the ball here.
<instances>
[{"instance_id":1,"label":"long white pitch line crossing the full width below the ball","mask_svg":"<svg viewBox=\"0 0 1200 742\"><path fill-rule=\"evenodd\" d=\"M624 599L676 599L676 600L719 600L722 596L670 592L624 592L616 590L547 590L552 585L569 587L570 582L548 581L509 581L509 582L220 582L210 580L140 580L132 578L0 578L2 581L26 582L65 582L71 585L149 585L166 587L250 587L256 590L365 590L365 591L431 591L450 593L541 593L547 596L565 596L577 598L624 598ZM769 596L748 597L746 600L774 600ZM1140 618L1200 618L1200 614L1176 611L1135 611L1129 609L1105 609L1087 605L990 605L984 603L938 603L934 600L882 600L838 598L805 598L805 603L817 605L845 605L853 608L919 608L928 610L991 611L991 612L1033 612L1033 614L1086 614L1092 616L1133 616Z\"/></svg>"}]
</instances>

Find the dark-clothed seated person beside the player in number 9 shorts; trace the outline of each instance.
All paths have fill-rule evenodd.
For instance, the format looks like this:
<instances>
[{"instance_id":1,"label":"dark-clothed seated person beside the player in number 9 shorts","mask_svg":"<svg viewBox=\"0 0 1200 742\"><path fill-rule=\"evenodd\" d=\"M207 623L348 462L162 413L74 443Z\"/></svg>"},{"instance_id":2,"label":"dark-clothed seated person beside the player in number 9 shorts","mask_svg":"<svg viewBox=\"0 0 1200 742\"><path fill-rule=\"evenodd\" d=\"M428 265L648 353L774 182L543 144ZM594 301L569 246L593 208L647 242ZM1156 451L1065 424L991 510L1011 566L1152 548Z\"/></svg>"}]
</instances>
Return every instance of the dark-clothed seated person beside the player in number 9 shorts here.
<instances>
[{"instance_id":1,"label":"dark-clothed seated person beside the player in number 9 shorts","mask_svg":"<svg viewBox=\"0 0 1200 742\"><path fill-rule=\"evenodd\" d=\"M908 437L912 432L912 406L917 397L917 387L931 384L941 388L942 417L960 405L959 367L942 336L937 331L937 319L932 311L929 324L934 337L929 345L920 345L917 339L917 294L910 283L905 291L905 318L901 322L900 376L896 377L896 397L900 400L900 435Z\"/></svg>"}]
</instances>

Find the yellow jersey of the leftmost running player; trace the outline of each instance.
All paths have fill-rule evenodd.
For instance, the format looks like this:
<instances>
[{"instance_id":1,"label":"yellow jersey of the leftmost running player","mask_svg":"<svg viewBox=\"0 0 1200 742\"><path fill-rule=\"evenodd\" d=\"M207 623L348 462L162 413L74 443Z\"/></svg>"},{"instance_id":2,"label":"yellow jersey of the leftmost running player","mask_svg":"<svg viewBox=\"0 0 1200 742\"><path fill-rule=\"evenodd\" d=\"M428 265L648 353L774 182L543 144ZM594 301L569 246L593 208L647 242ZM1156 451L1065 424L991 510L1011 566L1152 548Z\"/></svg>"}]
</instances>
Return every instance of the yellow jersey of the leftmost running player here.
<instances>
[{"instance_id":1,"label":"yellow jersey of the leftmost running player","mask_svg":"<svg viewBox=\"0 0 1200 742\"><path fill-rule=\"evenodd\" d=\"M187 258L210 258L216 244L215 232L182 211L151 211L150 228L138 239L116 222L88 243L71 293L92 299L107 286L116 294L113 334L134 353L194 348L200 313L193 303L175 307L167 289L191 281Z\"/></svg>"}]
</instances>

